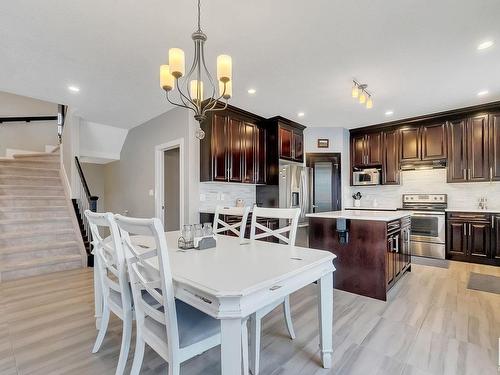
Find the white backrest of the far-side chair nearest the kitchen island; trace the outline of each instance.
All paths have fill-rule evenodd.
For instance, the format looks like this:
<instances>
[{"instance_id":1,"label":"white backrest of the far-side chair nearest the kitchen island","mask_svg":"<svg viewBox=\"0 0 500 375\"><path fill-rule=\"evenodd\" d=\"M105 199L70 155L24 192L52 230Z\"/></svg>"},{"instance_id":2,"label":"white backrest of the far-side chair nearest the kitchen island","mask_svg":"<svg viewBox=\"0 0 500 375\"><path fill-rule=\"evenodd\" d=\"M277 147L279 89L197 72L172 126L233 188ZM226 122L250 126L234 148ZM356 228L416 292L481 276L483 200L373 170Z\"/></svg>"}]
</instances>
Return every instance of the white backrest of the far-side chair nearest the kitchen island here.
<instances>
[{"instance_id":1,"label":"white backrest of the far-side chair nearest the kitchen island","mask_svg":"<svg viewBox=\"0 0 500 375\"><path fill-rule=\"evenodd\" d=\"M250 229L250 239L258 240L267 237L276 237L290 246L295 245L297 236L297 225L299 223L299 208L263 208L254 207L252 212L252 226ZM288 220L289 225L282 228L271 229L258 222L259 219L280 219ZM262 233L256 233L259 229ZM288 233L288 237L285 234Z\"/></svg>"}]
</instances>

